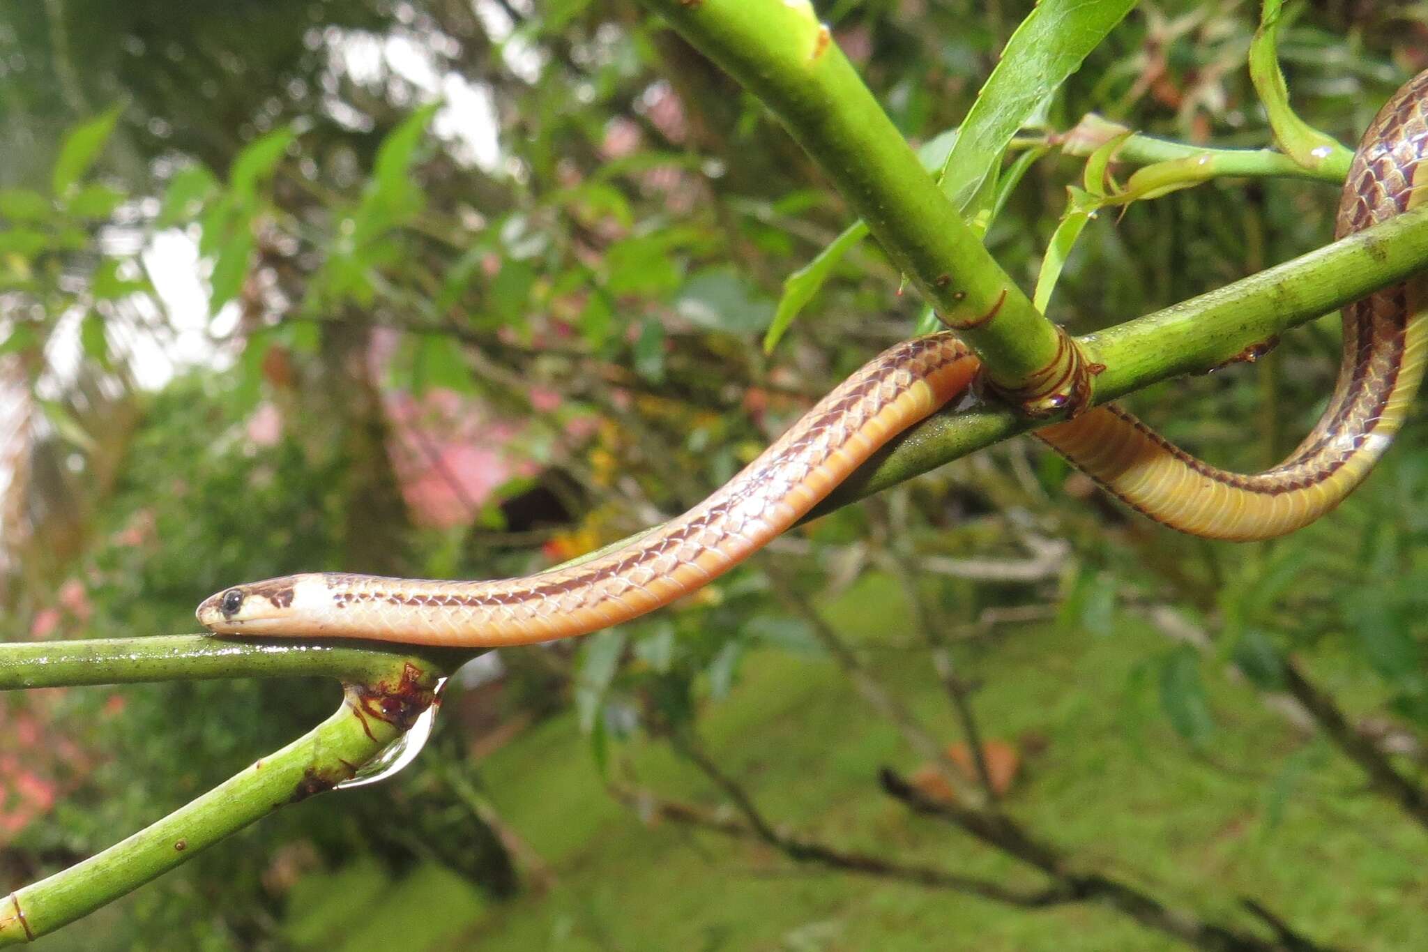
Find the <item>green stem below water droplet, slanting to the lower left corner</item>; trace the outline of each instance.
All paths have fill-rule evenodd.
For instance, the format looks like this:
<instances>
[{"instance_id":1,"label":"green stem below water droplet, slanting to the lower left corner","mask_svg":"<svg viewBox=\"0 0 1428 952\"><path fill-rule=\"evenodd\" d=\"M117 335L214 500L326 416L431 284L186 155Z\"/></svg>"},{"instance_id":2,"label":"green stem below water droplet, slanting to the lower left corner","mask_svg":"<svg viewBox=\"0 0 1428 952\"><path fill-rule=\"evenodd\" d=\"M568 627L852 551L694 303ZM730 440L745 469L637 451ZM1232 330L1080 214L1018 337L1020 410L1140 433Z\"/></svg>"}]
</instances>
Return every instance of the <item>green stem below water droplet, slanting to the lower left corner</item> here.
<instances>
[{"instance_id":1,"label":"green stem below water droplet, slanting to the lower left corner","mask_svg":"<svg viewBox=\"0 0 1428 952\"><path fill-rule=\"evenodd\" d=\"M348 691L336 714L281 751L101 854L0 898L0 945L54 932L274 809L350 778L401 735L360 705Z\"/></svg>"}]
</instances>

